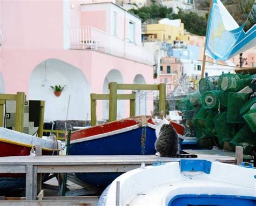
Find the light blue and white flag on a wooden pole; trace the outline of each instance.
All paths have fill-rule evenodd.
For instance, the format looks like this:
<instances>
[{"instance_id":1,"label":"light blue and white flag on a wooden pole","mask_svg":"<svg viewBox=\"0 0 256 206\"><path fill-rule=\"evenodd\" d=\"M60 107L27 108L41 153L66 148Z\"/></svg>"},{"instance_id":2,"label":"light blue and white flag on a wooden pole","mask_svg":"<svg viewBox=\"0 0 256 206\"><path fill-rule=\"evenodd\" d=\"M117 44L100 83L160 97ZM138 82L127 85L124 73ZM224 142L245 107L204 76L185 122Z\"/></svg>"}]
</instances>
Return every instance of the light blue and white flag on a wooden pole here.
<instances>
[{"instance_id":1,"label":"light blue and white flag on a wooden pole","mask_svg":"<svg viewBox=\"0 0 256 206\"><path fill-rule=\"evenodd\" d=\"M239 26L220 0L212 1L205 55L228 60L256 46L256 3L246 22Z\"/></svg>"}]
</instances>

